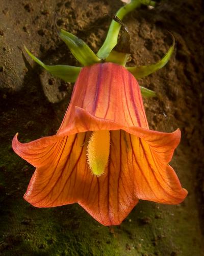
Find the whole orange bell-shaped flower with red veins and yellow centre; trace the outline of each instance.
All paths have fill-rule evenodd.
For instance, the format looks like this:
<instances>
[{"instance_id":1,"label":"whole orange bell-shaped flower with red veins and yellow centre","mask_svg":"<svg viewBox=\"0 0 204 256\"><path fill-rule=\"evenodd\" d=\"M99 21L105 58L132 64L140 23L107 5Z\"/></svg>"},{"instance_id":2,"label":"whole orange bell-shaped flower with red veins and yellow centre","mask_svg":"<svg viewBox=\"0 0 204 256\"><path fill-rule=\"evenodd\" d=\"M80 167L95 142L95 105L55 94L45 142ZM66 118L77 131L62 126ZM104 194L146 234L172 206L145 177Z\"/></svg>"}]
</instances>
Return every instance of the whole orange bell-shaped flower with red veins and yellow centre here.
<instances>
[{"instance_id":1,"label":"whole orange bell-shaped flower with red veins and yellow centre","mask_svg":"<svg viewBox=\"0 0 204 256\"><path fill-rule=\"evenodd\" d=\"M24 199L37 207L79 203L118 225L139 199L179 204L187 195L168 165L181 138L151 131L137 80L115 63L84 67L55 136L14 151L36 168Z\"/></svg>"}]
</instances>

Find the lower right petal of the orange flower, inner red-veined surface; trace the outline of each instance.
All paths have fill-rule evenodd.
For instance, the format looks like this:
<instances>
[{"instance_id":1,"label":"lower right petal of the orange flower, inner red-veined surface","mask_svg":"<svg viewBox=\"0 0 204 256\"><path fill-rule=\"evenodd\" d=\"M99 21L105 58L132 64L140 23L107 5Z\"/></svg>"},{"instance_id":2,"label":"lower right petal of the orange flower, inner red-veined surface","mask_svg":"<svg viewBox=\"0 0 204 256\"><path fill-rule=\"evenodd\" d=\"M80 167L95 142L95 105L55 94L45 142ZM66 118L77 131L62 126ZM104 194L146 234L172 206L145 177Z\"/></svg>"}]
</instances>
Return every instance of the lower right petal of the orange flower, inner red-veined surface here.
<instances>
[{"instance_id":1,"label":"lower right petal of the orange flower, inner red-veined surface","mask_svg":"<svg viewBox=\"0 0 204 256\"><path fill-rule=\"evenodd\" d=\"M127 136L126 141L132 148L129 161L135 170L133 179L137 197L165 204L181 203L186 198L187 191L182 188L173 168L167 164L169 155L172 154L170 145L163 147L161 140L156 151L156 148L145 140L131 134Z\"/></svg>"}]
</instances>

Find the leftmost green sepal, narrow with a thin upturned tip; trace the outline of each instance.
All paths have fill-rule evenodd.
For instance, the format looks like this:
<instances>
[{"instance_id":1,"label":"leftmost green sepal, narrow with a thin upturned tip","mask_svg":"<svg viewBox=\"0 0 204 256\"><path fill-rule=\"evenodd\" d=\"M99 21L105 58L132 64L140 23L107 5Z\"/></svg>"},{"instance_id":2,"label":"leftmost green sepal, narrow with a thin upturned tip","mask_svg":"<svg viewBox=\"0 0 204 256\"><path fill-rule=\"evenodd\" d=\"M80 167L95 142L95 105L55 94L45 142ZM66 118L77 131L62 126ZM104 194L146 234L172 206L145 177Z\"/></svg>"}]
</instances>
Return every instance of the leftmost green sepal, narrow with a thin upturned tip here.
<instances>
[{"instance_id":1,"label":"leftmost green sepal, narrow with a thin upturned tip","mask_svg":"<svg viewBox=\"0 0 204 256\"><path fill-rule=\"evenodd\" d=\"M31 58L37 62L41 67L47 70L52 75L63 79L66 82L75 82L77 77L82 68L80 67L73 67L68 65L55 65L55 66L48 66L45 65L41 60L36 58L26 47L25 51L31 56Z\"/></svg>"}]
</instances>

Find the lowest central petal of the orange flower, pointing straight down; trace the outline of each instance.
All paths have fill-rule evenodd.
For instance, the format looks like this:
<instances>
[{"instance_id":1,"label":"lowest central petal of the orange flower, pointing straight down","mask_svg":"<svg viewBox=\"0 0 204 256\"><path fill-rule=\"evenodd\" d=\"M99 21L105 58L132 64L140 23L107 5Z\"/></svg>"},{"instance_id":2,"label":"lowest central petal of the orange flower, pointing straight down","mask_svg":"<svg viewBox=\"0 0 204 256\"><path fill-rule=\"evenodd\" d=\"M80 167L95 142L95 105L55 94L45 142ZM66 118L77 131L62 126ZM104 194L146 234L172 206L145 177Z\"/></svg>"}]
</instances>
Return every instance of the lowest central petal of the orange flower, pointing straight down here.
<instances>
[{"instance_id":1,"label":"lowest central petal of the orange flower, pointing straight down","mask_svg":"<svg viewBox=\"0 0 204 256\"><path fill-rule=\"evenodd\" d=\"M138 203L133 170L126 159L123 131L111 131L110 161L105 173L93 177L90 196L79 202L89 214L103 225L119 225Z\"/></svg>"}]
</instances>

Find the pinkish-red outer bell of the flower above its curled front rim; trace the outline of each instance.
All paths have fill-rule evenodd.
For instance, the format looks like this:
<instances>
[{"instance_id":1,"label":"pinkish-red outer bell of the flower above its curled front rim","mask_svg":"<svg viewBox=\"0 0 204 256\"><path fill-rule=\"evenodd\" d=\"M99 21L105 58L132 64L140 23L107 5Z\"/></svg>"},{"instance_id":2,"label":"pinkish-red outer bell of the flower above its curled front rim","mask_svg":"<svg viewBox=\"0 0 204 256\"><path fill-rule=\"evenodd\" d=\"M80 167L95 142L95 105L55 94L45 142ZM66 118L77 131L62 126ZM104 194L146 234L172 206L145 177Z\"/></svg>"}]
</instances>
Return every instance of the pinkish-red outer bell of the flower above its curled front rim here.
<instances>
[{"instance_id":1,"label":"pinkish-red outer bell of the flower above its curled front rim","mask_svg":"<svg viewBox=\"0 0 204 256\"><path fill-rule=\"evenodd\" d=\"M73 126L83 132L76 123L73 124L76 107L121 126L148 129L138 82L129 71L115 63L97 63L81 70L58 130L59 136L73 129Z\"/></svg>"}]
</instances>

